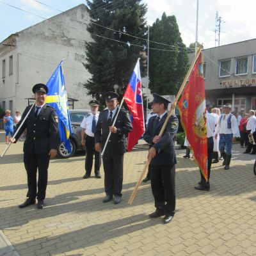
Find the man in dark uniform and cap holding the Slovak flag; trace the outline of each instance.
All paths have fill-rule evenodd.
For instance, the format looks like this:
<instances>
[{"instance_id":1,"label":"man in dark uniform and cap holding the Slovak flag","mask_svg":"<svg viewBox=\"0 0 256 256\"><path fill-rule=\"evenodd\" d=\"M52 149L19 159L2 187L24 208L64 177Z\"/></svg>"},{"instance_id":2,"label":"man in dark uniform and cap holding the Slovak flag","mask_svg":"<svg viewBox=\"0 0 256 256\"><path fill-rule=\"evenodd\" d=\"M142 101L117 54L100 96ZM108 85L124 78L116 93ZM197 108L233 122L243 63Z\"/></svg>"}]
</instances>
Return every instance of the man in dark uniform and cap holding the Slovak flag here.
<instances>
[{"instance_id":1,"label":"man in dark uniform and cap holding the Slovak flag","mask_svg":"<svg viewBox=\"0 0 256 256\"><path fill-rule=\"evenodd\" d=\"M95 131L95 150L100 152L104 148L109 132L111 136L107 141L106 150L102 156L105 173L104 185L106 197L103 202L109 202L113 195L114 204L121 202L122 185L123 185L123 163L125 152L125 136L132 131L132 124L129 113L120 109L118 113L118 94L107 92L104 95L108 109L100 112ZM116 118L115 126L113 121Z\"/></svg>"}]
</instances>

